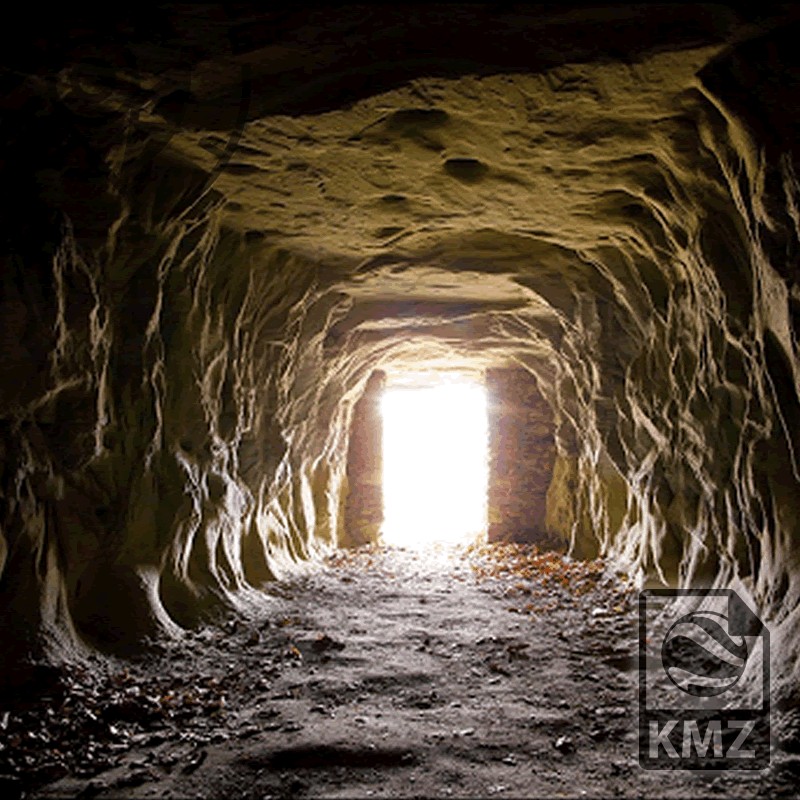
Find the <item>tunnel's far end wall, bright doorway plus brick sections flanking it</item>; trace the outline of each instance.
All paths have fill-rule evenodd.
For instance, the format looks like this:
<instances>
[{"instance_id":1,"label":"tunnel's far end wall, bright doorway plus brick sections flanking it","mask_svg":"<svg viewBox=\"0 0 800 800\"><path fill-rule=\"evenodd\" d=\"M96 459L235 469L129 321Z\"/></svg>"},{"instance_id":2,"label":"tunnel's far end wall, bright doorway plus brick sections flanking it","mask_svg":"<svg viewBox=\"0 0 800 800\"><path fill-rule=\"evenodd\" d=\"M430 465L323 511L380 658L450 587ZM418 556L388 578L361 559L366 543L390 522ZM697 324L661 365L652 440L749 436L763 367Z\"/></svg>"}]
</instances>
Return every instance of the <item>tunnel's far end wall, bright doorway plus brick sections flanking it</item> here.
<instances>
[{"instance_id":1,"label":"tunnel's far end wall, bright doorway plus brick sections flanking it","mask_svg":"<svg viewBox=\"0 0 800 800\"><path fill-rule=\"evenodd\" d=\"M376 370L350 433L341 545L565 548L547 523L553 412L527 370Z\"/></svg>"}]
</instances>

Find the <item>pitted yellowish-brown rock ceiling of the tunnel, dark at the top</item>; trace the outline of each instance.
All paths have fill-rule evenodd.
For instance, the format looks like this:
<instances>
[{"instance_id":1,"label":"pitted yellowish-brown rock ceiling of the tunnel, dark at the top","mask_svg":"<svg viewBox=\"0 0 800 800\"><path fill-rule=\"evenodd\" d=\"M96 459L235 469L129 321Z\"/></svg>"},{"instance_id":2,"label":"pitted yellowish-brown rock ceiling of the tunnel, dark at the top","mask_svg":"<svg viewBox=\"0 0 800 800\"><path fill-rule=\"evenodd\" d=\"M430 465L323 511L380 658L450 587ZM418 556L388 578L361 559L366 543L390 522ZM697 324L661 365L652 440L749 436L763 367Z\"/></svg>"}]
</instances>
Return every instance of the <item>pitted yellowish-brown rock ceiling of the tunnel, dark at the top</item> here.
<instances>
[{"instance_id":1,"label":"pitted yellowish-brown rock ceiling of the tunnel, dark at the top","mask_svg":"<svg viewBox=\"0 0 800 800\"><path fill-rule=\"evenodd\" d=\"M224 226L349 297L330 341L413 320L498 356L510 325L544 354L586 292L648 335L685 279L664 254L720 179L699 75L787 14L175 6L72 23L41 69L67 107L123 121L112 172L142 147L195 171Z\"/></svg>"}]
</instances>

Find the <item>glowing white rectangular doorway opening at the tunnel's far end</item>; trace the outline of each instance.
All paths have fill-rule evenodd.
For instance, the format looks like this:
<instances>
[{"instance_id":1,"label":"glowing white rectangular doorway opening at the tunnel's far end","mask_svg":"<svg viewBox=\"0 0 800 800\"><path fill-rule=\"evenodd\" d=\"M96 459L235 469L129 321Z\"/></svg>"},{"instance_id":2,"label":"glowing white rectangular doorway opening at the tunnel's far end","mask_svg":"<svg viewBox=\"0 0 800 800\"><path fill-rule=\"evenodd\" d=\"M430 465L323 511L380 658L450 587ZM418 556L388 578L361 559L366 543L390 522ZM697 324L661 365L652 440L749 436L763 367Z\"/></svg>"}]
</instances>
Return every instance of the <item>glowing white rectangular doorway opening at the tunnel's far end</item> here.
<instances>
[{"instance_id":1,"label":"glowing white rectangular doorway opening at the tunnel's far end","mask_svg":"<svg viewBox=\"0 0 800 800\"><path fill-rule=\"evenodd\" d=\"M389 387L383 414L383 541L469 543L486 530L486 389Z\"/></svg>"}]
</instances>

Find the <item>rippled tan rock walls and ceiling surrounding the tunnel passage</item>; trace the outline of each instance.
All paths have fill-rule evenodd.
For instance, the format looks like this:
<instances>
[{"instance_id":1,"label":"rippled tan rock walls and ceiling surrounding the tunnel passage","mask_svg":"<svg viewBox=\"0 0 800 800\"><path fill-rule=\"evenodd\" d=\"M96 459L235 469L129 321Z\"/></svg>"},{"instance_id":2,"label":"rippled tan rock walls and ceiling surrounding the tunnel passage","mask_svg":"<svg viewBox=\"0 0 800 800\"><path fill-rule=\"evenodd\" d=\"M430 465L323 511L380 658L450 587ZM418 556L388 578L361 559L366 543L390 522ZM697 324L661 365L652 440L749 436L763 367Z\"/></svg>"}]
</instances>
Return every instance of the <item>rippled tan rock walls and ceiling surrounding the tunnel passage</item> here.
<instances>
[{"instance_id":1,"label":"rippled tan rock walls and ceiling surrounding the tunnel passage","mask_svg":"<svg viewBox=\"0 0 800 800\"><path fill-rule=\"evenodd\" d=\"M3 658L247 603L343 537L373 370L514 366L555 420L553 535L744 589L796 685L796 16L239 4L15 29Z\"/></svg>"}]
</instances>

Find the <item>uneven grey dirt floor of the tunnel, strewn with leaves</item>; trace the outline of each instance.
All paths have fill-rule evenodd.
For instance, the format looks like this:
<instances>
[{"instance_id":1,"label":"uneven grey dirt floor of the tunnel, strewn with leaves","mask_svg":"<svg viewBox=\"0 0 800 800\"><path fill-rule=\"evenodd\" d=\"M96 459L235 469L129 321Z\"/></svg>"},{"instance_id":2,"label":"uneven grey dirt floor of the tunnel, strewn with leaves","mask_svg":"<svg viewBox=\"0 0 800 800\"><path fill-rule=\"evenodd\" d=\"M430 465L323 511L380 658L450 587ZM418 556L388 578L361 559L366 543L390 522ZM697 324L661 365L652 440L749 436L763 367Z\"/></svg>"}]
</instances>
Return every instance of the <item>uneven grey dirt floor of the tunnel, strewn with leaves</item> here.
<instances>
[{"instance_id":1,"label":"uneven grey dirt floor of the tunnel, strewn with leaves","mask_svg":"<svg viewBox=\"0 0 800 800\"><path fill-rule=\"evenodd\" d=\"M0 707L0 796L795 796L785 768L639 768L635 597L526 547L343 552Z\"/></svg>"}]
</instances>

